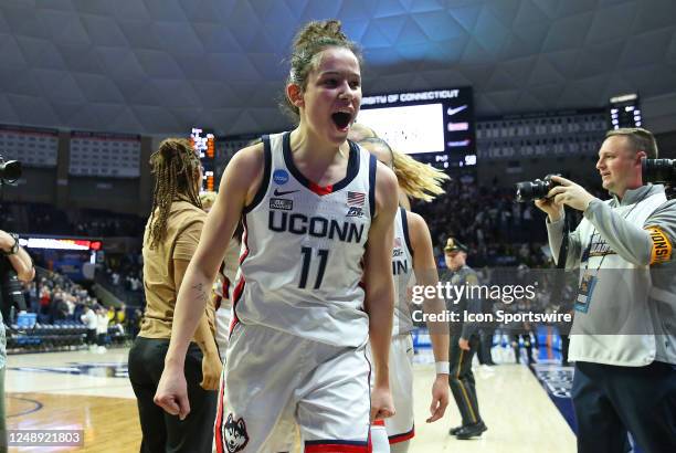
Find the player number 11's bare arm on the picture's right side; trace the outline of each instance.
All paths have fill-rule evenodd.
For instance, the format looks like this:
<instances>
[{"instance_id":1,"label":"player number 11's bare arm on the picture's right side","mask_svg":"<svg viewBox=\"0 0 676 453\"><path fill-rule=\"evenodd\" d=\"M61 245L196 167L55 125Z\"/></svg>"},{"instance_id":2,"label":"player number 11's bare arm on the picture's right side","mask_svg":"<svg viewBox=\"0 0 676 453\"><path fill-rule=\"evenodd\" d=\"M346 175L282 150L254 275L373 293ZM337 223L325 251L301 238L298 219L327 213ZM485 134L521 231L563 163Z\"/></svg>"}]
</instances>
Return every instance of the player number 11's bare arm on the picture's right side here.
<instances>
[{"instance_id":1,"label":"player number 11's bare arm on the picture's right side","mask_svg":"<svg viewBox=\"0 0 676 453\"><path fill-rule=\"evenodd\" d=\"M369 339L376 368L376 382L371 393L372 420L394 414L388 359L394 314L394 283L391 268L397 187L394 173L378 162L376 215L369 229L363 270L365 308L369 315Z\"/></svg>"}]
</instances>

